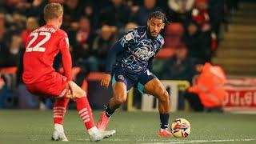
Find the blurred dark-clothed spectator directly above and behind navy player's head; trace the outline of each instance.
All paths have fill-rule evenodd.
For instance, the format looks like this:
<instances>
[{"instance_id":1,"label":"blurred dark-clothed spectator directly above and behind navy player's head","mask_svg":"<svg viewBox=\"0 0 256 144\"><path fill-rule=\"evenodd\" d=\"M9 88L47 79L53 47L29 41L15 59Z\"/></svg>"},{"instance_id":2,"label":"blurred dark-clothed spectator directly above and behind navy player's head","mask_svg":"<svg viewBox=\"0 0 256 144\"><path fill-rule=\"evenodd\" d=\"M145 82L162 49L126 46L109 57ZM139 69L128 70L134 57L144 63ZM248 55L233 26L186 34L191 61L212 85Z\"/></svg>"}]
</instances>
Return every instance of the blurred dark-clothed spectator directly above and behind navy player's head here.
<instances>
[{"instance_id":1,"label":"blurred dark-clothed spectator directly above and behind navy player's head","mask_svg":"<svg viewBox=\"0 0 256 144\"><path fill-rule=\"evenodd\" d=\"M156 6L156 0L144 0L144 6L140 7L135 14L133 14L131 21L138 24L138 26L146 26L146 21L149 15L160 10L161 8Z\"/></svg>"}]
</instances>

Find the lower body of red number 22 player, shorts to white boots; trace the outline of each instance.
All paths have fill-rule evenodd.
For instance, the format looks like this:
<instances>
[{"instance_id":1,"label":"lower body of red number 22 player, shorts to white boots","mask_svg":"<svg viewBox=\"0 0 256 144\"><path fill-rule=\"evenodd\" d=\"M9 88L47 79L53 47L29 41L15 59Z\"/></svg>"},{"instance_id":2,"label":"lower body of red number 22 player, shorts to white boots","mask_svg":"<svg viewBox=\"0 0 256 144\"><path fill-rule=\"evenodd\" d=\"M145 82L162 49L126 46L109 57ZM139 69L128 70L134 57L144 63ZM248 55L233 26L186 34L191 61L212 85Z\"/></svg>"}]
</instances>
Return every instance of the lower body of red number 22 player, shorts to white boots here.
<instances>
[{"instance_id":1,"label":"lower body of red number 22 player, shorts to white boots","mask_svg":"<svg viewBox=\"0 0 256 144\"><path fill-rule=\"evenodd\" d=\"M63 77L62 74L53 73L50 74L49 77L50 78L47 78L46 81L36 83L32 86L27 86L28 90L38 95L50 95L54 98L62 98L62 102L58 100L56 101L58 105L61 106L67 105L68 101L66 98L73 98L74 101L77 103L78 113L82 118L92 141L98 141L101 140L102 138L110 137L112 134L115 133L114 130L100 131L96 128L96 126L94 126L94 119L92 118L92 112L90 109L90 104L86 98L86 93L79 86L77 86L74 82L71 82L73 84L72 90L74 90L73 94L71 94L68 83L66 82L66 78ZM56 104L55 106L58 105ZM55 125L58 128L54 127L54 134L52 139L67 141L66 136L64 134L63 126L61 125L64 113L56 113L56 116L57 115L62 116L62 118L54 118L54 122L58 122L58 125Z\"/></svg>"}]
</instances>

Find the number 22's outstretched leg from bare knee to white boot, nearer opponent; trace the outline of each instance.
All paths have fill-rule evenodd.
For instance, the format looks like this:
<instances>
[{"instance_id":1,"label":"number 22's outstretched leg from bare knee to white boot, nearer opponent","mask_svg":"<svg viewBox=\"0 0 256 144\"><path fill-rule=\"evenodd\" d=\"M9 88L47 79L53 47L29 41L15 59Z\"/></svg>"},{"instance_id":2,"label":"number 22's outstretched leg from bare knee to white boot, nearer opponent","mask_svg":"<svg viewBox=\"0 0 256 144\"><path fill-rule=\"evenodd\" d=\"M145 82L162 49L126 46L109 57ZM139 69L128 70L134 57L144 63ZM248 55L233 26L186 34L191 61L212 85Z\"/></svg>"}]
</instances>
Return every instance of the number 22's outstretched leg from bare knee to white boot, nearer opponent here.
<instances>
[{"instance_id":1,"label":"number 22's outstretched leg from bare knee to white boot, nearer opponent","mask_svg":"<svg viewBox=\"0 0 256 144\"><path fill-rule=\"evenodd\" d=\"M84 122L86 130L90 134L90 139L92 141L99 141L103 138L108 138L115 133L115 130L109 131L101 131L98 130L97 127L94 125L94 118L92 114L92 110L90 108L90 103L88 102L86 92L82 90L78 85L73 82L73 94L72 98L77 104L77 110L80 118Z\"/></svg>"}]
</instances>

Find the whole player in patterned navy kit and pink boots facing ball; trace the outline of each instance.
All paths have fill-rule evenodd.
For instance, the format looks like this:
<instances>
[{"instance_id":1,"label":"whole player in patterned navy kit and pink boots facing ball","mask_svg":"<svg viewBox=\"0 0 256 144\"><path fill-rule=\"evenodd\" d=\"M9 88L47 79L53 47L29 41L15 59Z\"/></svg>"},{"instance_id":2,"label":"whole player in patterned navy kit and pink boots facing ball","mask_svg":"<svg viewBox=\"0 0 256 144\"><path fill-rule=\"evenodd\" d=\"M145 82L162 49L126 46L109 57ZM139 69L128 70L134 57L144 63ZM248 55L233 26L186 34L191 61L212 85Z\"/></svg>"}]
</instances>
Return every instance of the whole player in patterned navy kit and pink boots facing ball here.
<instances>
[{"instance_id":1,"label":"whole player in patterned navy kit and pink boots facing ball","mask_svg":"<svg viewBox=\"0 0 256 144\"><path fill-rule=\"evenodd\" d=\"M158 136L171 137L168 130L170 98L165 86L150 72L154 56L162 48L164 38L160 34L164 29L166 14L155 11L150 14L147 26L130 30L109 51L106 59L106 74L101 86L108 87L112 78L113 98L97 123L99 130L105 130L114 110L126 102L127 91L138 86L142 93L158 98L160 130Z\"/></svg>"}]
</instances>

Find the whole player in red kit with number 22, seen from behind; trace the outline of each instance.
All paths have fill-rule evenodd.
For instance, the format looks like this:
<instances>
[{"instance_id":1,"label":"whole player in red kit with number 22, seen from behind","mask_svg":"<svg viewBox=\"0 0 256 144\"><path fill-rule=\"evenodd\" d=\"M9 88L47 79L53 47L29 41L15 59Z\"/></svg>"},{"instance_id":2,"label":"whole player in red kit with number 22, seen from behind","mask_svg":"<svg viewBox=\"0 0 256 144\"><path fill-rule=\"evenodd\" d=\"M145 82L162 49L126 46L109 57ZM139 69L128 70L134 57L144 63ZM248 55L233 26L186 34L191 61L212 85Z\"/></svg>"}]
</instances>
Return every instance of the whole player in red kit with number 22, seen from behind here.
<instances>
[{"instance_id":1,"label":"whole player in red kit with number 22, seen from behind","mask_svg":"<svg viewBox=\"0 0 256 144\"><path fill-rule=\"evenodd\" d=\"M60 29L62 16L63 8L60 4L50 3L45 6L46 25L31 32L26 43L22 79L30 93L56 98L53 140L68 141L62 123L70 99L76 102L78 114L90 134L90 139L98 141L108 138L115 133L115 130L101 131L94 126L94 118L86 92L72 82L69 39L66 32ZM54 57L58 52L62 54L64 75L59 74L53 68Z\"/></svg>"}]
</instances>

